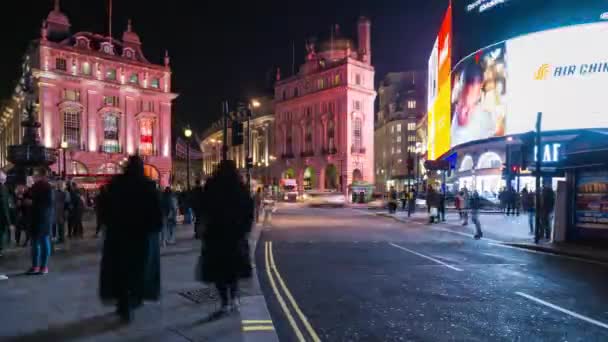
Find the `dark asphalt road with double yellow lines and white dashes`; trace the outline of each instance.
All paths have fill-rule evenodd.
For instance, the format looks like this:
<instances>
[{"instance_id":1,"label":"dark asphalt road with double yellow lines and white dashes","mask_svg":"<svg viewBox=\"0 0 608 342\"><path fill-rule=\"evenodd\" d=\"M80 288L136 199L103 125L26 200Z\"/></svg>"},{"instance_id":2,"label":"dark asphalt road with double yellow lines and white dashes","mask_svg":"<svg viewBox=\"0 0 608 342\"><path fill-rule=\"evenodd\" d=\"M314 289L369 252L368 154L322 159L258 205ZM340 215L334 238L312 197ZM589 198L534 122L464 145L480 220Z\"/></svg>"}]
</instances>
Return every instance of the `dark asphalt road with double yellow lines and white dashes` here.
<instances>
[{"instance_id":1,"label":"dark asphalt road with double yellow lines and white dashes","mask_svg":"<svg viewBox=\"0 0 608 342\"><path fill-rule=\"evenodd\" d=\"M297 206L256 264L281 341L608 341L608 265Z\"/></svg>"}]
</instances>

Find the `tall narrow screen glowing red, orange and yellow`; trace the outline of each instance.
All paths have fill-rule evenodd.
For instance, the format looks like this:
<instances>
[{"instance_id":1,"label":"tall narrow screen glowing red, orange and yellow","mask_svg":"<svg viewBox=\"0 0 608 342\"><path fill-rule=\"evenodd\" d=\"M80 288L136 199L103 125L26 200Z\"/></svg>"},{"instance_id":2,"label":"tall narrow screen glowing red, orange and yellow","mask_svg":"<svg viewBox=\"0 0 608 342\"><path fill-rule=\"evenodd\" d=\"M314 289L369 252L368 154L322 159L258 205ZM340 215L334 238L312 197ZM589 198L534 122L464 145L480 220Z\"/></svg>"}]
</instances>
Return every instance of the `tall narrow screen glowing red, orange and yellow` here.
<instances>
[{"instance_id":1,"label":"tall narrow screen glowing red, orange and yellow","mask_svg":"<svg viewBox=\"0 0 608 342\"><path fill-rule=\"evenodd\" d=\"M429 101L428 115L429 160L437 159L450 149L451 47L452 9L448 7L429 61L429 90L433 91L432 98L429 96L429 100L433 100ZM433 73L433 77L431 77L431 73Z\"/></svg>"}]
</instances>

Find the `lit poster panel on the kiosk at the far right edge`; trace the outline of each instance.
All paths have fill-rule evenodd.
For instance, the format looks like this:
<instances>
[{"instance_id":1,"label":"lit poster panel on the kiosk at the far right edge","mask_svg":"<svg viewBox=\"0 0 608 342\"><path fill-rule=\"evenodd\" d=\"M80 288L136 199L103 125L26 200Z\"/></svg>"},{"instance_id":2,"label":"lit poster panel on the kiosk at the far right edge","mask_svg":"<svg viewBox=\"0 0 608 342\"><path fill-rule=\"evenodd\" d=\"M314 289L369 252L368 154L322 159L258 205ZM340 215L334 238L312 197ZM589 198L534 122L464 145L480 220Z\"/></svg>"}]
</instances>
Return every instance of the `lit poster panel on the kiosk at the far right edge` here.
<instances>
[{"instance_id":1,"label":"lit poster panel on the kiosk at the far right edge","mask_svg":"<svg viewBox=\"0 0 608 342\"><path fill-rule=\"evenodd\" d=\"M585 171L578 174L576 227L608 229L608 171Z\"/></svg>"}]
</instances>

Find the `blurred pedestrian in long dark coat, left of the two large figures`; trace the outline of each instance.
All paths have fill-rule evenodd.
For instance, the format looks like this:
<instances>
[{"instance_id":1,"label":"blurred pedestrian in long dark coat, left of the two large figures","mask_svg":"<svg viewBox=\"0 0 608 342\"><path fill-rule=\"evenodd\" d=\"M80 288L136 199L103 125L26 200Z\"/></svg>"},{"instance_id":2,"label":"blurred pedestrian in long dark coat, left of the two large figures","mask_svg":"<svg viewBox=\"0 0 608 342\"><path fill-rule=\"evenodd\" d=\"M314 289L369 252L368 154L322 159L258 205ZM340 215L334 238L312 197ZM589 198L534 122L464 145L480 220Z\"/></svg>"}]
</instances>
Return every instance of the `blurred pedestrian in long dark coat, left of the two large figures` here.
<instances>
[{"instance_id":1,"label":"blurred pedestrian in long dark coat, left of the two large figures","mask_svg":"<svg viewBox=\"0 0 608 342\"><path fill-rule=\"evenodd\" d=\"M112 179L106 203L100 297L115 301L120 317L130 322L143 300L160 298L160 196L140 157L130 157L125 173Z\"/></svg>"}]
</instances>

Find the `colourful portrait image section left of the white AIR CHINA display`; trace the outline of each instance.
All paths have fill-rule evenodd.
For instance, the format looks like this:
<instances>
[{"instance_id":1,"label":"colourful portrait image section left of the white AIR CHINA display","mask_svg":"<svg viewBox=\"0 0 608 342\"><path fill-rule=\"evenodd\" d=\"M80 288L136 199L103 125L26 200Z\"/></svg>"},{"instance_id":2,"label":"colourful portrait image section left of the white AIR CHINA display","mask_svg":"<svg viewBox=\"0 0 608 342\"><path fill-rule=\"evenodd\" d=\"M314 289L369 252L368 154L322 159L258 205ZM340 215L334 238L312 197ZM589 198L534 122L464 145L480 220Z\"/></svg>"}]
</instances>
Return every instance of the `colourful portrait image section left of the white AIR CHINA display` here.
<instances>
[{"instance_id":1,"label":"colourful portrait image section left of the white AIR CHINA display","mask_svg":"<svg viewBox=\"0 0 608 342\"><path fill-rule=\"evenodd\" d=\"M505 135L507 63L505 44L481 50L453 72L452 146Z\"/></svg>"}]
</instances>

